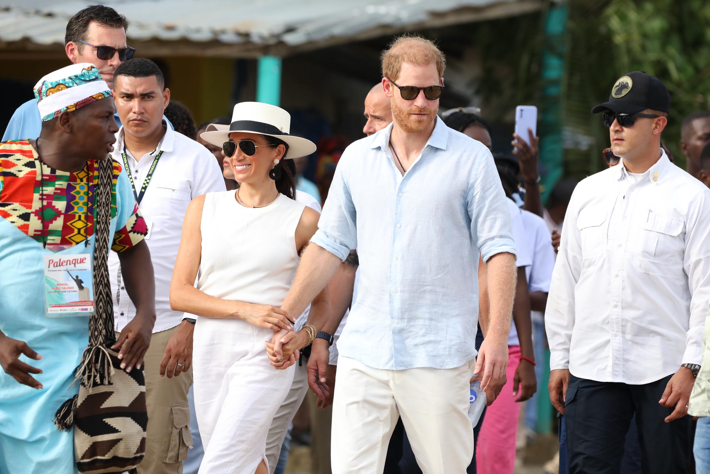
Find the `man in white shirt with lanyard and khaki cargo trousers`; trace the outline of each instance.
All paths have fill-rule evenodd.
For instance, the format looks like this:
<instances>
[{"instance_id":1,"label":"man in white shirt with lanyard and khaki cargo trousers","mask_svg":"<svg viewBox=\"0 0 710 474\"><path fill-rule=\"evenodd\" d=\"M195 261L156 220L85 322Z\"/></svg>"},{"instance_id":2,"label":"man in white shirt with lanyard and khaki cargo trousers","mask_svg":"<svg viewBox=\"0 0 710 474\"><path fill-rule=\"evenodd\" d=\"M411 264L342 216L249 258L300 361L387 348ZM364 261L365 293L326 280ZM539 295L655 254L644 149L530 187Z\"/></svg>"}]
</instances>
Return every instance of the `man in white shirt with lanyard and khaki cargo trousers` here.
<instances>
[{"instance_id":1,"label":"man in white shirt with lanyard and khaki cargo trousers","mask_svg":"<svg viewBox=\"0 0 710 474\"><path fill-rule=\"evenodd\" d=\"M165 88L155 62L136 58L119 65L113 92L123 126L116 133L111 157L121 163L133 187L146 221L146 243L155 271L155 326L144 358L146 457L138 465L138 474L177 473L182 472L182 461L192 445L188 390L195 320L170 309L170 280L187 205L200 194L226 187L212 153L173 131L163 119L170 89ZM109 274L115 327L121 331L136 316L136 307L126 293L129 282L119 259L112 255Z\"/></svg>"}]
</instances>

